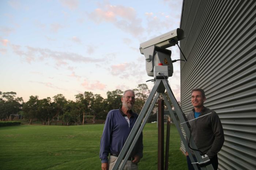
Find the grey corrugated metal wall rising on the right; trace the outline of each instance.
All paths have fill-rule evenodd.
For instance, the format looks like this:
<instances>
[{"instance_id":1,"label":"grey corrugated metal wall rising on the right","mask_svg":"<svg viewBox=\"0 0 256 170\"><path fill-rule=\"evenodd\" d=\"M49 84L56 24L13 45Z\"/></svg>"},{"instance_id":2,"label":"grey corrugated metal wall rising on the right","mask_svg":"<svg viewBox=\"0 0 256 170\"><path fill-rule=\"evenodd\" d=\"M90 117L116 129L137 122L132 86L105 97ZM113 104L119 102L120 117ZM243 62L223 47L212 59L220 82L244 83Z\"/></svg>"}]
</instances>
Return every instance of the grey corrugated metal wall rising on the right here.
<instances>
[{"instance_id":1,"label":"grey corrugated metal wall rising on the right","mask_svg":"<svg viewBox=\"0 0 256 170\"><path fill-rule=\"evenodd\" d=\"M256 169L256 0L184 0L180 28L183 112L203 88L225 133L219 169Z\"/></svg>"}]
</instances>

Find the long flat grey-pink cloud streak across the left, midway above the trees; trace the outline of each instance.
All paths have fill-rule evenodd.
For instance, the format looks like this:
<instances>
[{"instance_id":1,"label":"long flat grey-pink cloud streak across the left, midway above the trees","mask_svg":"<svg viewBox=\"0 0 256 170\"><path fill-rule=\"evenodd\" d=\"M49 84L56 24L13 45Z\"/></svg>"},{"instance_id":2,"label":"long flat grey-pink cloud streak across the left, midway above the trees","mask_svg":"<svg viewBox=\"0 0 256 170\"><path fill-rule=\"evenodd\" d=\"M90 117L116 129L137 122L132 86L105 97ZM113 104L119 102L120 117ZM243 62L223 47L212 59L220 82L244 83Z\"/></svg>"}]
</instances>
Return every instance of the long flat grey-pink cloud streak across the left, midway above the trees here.
<instances>
[{"instance_id":1,"label":"long flat grey-pink cloud streak across the left, midway above the trees","mask_svg":"<svg viewBox=\"0 0 256 170\"><path fill-rule=\"evenodd\" d=\"M53 59L56 62L57 66L67 65L69 62L83 62L83 63L91 63L91 62L105 62L105 58L95 59L90 57L84 57L82 55L73 53L73 52L60 52L53 51L47 48L34 48L30 46L26 46L23 49L18 45L11 45L12 50L22 58L30 63L36 60L45 60L45 59Z\"/></svg>"}]
</instances>

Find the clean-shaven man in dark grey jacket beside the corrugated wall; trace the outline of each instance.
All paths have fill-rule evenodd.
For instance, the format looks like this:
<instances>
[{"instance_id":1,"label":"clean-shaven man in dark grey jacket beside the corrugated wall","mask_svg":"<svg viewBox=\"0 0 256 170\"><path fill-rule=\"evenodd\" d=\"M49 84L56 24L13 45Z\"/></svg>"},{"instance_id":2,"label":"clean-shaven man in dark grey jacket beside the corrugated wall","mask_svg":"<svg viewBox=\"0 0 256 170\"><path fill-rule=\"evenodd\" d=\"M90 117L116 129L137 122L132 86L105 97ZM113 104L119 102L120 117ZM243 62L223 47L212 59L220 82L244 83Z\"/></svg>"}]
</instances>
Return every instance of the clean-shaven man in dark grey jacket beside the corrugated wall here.
<instances>
[{"instance_id":1,"label":"clean-shaven man in dark grey jacket beside the corrugated wall","mask_svg":"<svg viewBox=\"0 0 256 170\"><path fill-rule=\"evenodd\" d=\"M217 113L209 108L204 107L206 100L204 90L195 88L191 92L192 111L187 115L191 126L191 134L196 143L197 149L201 155L208 155L210 162L215 170L218 169L217 153L221 150L224 143L224 133L221 120ZM197 119L195 119L197 118ZM195 119L195 120L192 120ZM193 150L191 150L193 154ZM191 160L187 154L188 169L193 170ZM194 157L194 156L193 156ZM195 162L196 157L194 157Z\"/></svg>"}]
</instances>

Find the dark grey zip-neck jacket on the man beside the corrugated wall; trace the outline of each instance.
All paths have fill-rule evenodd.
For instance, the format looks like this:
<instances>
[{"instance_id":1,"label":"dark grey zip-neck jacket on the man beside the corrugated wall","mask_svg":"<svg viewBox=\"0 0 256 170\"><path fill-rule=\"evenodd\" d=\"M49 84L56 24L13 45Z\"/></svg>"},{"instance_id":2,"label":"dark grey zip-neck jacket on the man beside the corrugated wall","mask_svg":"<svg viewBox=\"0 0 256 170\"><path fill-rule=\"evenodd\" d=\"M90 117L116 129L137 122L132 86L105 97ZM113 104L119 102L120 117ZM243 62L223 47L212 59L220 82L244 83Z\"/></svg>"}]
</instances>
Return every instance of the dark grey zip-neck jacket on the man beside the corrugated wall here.
<instances>
[{"instance_id":1,"label":"dark grey zip-neck jacket on the man beside the corrugated wall","mask_svg":"<svg viewBox=\"0 0 256 170\"><path fill-rule=\"evenodd\" d=\"M195 119L194 112L195 109L187 115L188 120ZM217 113L204 107L199 117L190 121L189 124L197 149L207 154L210 159L217 155L224 143L223 128ZM191 151L193 153L193 150Z\"/></svg>"}]
</instances>

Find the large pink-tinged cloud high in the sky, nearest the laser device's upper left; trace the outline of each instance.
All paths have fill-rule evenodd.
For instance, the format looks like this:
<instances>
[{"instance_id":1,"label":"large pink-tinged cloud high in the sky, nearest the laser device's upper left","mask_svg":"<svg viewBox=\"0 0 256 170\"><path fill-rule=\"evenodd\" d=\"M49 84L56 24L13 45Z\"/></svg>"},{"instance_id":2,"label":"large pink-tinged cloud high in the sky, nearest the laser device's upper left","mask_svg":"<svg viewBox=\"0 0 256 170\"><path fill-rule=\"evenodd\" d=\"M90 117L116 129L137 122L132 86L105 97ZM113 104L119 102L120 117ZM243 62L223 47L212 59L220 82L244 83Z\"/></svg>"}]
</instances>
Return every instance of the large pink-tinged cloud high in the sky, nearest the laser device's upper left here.
<instances>
[{"instance_id":1,"label":"large pink-tinged cloud high in the sky, nearest the laser device's upper left","mask_svg":"<svg viewBox=\"0 0 256 170\"><path fill-rule=\"evenodd\" d=\"M130 33L134 37L138 37L143 33L142 20L137 18L134 8L110 4L100 4L100 6L102 8L97 8L87 14L89 19L95 23L113 23L118 29Z\"/></svg>"}]
</instances>

